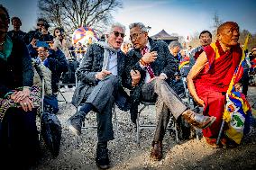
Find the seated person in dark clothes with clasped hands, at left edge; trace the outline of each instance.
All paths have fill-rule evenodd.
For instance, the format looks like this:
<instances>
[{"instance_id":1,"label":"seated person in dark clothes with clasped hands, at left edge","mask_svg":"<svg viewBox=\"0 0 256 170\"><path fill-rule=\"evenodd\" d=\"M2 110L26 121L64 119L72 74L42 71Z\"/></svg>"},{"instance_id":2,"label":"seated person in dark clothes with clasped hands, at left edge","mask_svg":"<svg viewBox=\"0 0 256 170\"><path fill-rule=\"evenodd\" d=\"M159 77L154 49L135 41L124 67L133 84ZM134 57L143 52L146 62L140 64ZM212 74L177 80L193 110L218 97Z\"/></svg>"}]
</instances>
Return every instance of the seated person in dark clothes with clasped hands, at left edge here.
<instances>
[{"instance_id":1,"label":"seated person in dark clothes with clasped hands, at left edge","mask_svg":"<svg viewBox=\"0 0 256 170\"><path fill-rule=\"evenodd\" d=\"M35 123L36 110L32 103L32 59L22 40L7 36L10 19L0 5L0 104L11 99L0 120L0 169L23 169L34 163L39 147ZM8 163L12 164L8 164Z\"/></svg>"}]
</instances>

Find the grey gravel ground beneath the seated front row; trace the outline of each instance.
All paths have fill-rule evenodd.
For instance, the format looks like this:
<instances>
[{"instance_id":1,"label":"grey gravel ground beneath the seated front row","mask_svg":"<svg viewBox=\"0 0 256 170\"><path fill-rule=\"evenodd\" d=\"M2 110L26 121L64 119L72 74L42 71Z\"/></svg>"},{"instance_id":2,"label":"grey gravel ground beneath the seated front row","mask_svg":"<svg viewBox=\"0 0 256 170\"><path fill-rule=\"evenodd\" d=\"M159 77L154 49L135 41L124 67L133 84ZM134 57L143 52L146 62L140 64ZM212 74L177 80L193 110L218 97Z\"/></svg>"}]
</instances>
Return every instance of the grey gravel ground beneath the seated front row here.
<instances>
[{"instance_id":1,"label":"grey gravel ground beneath the seated front row","mask_svg":"<svg viewBox=\"0 0 256 170\"><path fill-rule=\"evenodd\" d=\"M65 93L70 101L72 92ZM256 87L250 87L249 101L256 102ZM42 169L97 169L95 165L96 130L85 130L78 138L69 131L66 121L75 112L75 107L68 103L59 103L59 121L62 125L62 140L59 157L53 158L43 148L39 165L32 167ZM254 108L256 109L256 108ZM256 169L256 128L251 127L250 134L238 148L213 149L206 146L204 139L181 141L178 145L173 137L166 134L163 141L164 156L160 162L151 161L151 140L154 130L141 131L141 144L136 145L136 133L130 121L129 112L117 111L118 134L109 142L109 156L113 170L151 170L151 169ZM142 112L142 119L154 122L154 108ZM88 122L93 123L96 114L90 113Z\"/></svg>"}]
</instances>

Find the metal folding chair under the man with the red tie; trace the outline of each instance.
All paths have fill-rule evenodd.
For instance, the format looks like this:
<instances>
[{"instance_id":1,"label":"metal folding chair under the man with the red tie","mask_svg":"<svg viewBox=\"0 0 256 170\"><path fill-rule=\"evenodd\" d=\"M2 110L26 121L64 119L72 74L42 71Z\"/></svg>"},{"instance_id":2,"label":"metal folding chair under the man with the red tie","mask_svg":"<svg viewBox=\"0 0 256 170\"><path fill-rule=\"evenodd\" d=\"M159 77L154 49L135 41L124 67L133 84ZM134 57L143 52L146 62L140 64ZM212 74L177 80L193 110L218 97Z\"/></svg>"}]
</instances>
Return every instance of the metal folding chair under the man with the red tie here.
<instances>
[{"instance_id":1,"label":"metal folding chair under the man with the red tie","mask_svg":"<svg viewBox=\"0 0 256 170\"><path fill-rule=\"evenodd\" d=\"M137 126L137 130L136 130L136 143L139 145L140 144L140 131L142 129L155 129L157 127L156 124L145 124L145 123L141 123L140 122L140 115L142 113L142 111L148 107L150 105L155 105L155 103L147 103L147 102L141 102L142 103L142 108L139 110L138 112L138 116L137 116L137 119L136 119L136 126ZM172 114L171 114L172 116ZM175 121L175 119L173 118L173 116L169 119L170 121L174 121L173 123L171 123L171 127L167 127L166 130L174 130L175 131L175 135L176 135L176 142L178 143L179 142L179 139L178 139L178 130L177 130L177 122Z\"/></svg>"}]
</instances>

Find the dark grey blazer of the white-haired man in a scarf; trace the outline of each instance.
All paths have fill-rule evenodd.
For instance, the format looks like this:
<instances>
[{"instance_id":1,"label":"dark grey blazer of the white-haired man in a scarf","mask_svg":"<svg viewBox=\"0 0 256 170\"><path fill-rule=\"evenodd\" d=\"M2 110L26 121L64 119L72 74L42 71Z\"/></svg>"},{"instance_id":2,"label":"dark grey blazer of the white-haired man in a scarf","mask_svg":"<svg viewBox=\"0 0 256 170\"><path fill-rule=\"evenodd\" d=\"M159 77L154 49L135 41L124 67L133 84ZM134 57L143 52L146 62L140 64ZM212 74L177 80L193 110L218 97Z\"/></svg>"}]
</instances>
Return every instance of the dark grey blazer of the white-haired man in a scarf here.
<instances>
[{"instance_id":1,"label":"dark grey blazer of the white-haired man in a scarf","mask_svg":"<svg viewBox=\"0 0 256 170\"><path fill-rule=\"evenodd\" d=\"M122 51L117 53L117 73L119 79L119 90L123 92L125 76L125 58ZM87 100L94 86L97 85L96 73L100 72L103 67L104 48L92 44L88 49L86 56L83 58L80 67L77 70L78 85L72 98L72 103L78 107L82 101Z\"/></svg>"}]
</instances>

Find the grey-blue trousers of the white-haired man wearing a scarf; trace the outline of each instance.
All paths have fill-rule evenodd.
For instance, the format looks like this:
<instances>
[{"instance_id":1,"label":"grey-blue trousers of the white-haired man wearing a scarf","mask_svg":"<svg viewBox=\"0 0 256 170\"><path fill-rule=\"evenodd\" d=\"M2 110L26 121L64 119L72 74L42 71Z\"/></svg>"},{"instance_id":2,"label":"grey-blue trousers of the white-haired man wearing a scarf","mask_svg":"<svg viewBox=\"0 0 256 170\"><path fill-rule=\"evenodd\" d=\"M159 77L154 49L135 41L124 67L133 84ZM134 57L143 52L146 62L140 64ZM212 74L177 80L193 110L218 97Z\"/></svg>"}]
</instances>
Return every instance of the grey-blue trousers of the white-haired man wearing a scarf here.
<instances>
[{"instance_id":1,"label":"grey-blue trousers of the white-haired man wearing a scarf","mask_svg":"<svg viewBox=\"0 0 256 170\"><path fill-rule=\"evenodd\" d=\"M96 108L98 142L114 139L112 109L117 90L117 76L106 76L104 80L98 82L87 97L86 103L91 103Z\"/></svg>"}]
</instances>

